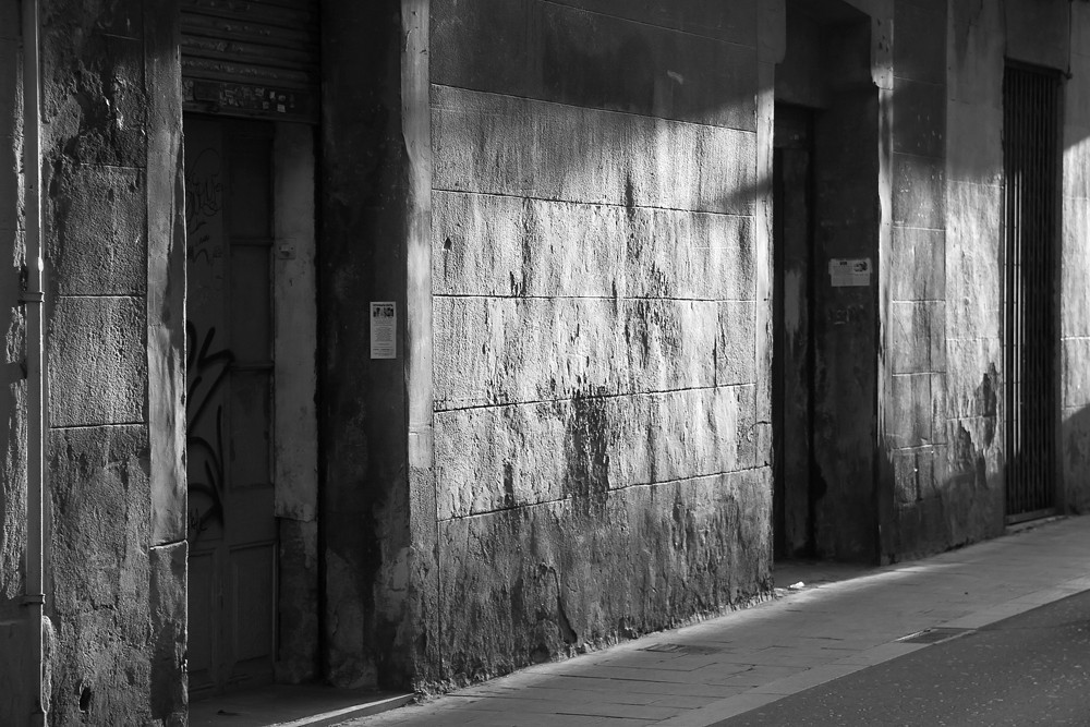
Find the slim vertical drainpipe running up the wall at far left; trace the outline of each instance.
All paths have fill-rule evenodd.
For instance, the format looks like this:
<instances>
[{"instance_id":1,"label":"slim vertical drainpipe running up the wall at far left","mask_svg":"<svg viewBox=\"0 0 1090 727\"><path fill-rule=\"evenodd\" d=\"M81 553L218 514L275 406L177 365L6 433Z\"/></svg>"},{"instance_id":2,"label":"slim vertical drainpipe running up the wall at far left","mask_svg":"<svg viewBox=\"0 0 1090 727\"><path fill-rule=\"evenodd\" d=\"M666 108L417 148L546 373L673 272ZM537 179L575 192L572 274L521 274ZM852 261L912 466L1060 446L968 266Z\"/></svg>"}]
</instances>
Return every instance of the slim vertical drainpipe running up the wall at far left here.
<instances>
[{"instance_id":1,"label":"slim vertical drainpipe running up the wall at far left","mask_svg":"<svg viewBox=\"0 0 1090 727\"><path fill-rule=\"evenodd\" d=\"M26 279L22 301L26 306L26 593L28 664L35 670L37 693L31 725L44 725L43 626L45 608L43 489L45 436L45 340L41 286L41 138L38 0L23 0L23 191Z\"/></svg>"}]
</instances>

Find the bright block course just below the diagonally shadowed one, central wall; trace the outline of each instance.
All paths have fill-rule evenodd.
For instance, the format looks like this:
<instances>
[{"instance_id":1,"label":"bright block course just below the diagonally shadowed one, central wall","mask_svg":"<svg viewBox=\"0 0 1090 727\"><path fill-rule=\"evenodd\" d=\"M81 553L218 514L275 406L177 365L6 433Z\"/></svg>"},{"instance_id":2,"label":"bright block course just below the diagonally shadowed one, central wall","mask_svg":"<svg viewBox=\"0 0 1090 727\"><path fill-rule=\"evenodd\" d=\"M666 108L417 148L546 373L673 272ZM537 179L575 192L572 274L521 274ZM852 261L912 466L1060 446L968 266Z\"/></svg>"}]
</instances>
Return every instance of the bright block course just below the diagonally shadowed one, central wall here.
<instances>
[{"instance_id":1,"label":"bright block course just below the diagonally shadowed one, central wall","mask_svg":"<svg viewBox=\"0 0 1090 727\"><path fill-rule=\"evenodd\" d=\"M436 191L436 294L754 299L754 223Z\"/></svg>"}]
</instances>

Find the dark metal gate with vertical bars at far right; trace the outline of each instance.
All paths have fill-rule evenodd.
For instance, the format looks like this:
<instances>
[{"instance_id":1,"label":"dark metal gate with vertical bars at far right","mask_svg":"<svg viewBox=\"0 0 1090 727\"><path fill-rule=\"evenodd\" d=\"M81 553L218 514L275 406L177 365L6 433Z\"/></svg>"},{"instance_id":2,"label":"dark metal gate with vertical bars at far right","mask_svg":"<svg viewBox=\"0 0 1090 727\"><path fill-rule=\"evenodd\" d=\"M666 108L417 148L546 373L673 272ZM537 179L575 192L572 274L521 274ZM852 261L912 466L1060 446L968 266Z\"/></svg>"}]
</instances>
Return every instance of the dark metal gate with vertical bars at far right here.
<instances>
[{"instance_id":1,"label":"dark metal gate with vertical bars at far right","mask_svg":"<svg viewBox=\"0 0 1090 727\"><path fill-rule=\"evenodd\" d=\"M1007 522L1055 507L1061 78L1008 65L1003 81Z\"/></svg>"}]
</instances>

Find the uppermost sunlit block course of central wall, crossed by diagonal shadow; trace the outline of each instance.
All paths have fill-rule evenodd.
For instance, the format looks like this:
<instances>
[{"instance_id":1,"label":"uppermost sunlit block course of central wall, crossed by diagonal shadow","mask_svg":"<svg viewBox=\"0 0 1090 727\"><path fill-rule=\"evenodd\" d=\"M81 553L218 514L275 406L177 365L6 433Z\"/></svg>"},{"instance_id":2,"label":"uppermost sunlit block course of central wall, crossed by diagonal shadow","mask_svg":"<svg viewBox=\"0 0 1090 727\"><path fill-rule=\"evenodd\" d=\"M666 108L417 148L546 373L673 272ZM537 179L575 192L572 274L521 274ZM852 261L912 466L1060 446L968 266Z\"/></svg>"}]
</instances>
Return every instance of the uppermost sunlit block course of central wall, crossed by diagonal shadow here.
<instances>
[{"instance_id":1,"label":"uppermost sunlit block course of central wall, crossed by diagonal shadow","mask_svg":"<svg viewBox=\"0 0 1090 727\"><path fill-rule=\"evenodd\" d=\"M433 185L751 215L756 134L432 87Z\"/></svg>"}]
</instances>

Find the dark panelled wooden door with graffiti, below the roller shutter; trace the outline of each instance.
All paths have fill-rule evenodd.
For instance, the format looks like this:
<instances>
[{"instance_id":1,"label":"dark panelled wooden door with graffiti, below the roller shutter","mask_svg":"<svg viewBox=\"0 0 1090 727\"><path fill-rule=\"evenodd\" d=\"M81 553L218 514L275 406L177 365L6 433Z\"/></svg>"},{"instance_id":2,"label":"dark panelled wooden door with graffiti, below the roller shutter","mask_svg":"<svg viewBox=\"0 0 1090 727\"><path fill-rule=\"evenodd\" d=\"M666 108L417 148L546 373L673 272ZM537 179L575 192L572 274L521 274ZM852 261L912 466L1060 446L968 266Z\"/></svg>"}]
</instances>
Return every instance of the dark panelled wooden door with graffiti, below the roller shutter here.
<instances>
[{"instance_id":1,"label":"dark panelled wooden door with graffiti, below the roller shutter","mask_svg":"<svg viewBox=\"0 0 1090 727\"><path fill-rule=\"evenodd\" d=\"M189 673L271 681L272 126L185 119Z\"/></svg>"}]
</instances>

